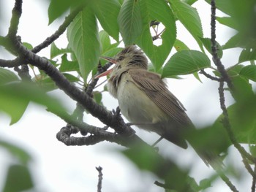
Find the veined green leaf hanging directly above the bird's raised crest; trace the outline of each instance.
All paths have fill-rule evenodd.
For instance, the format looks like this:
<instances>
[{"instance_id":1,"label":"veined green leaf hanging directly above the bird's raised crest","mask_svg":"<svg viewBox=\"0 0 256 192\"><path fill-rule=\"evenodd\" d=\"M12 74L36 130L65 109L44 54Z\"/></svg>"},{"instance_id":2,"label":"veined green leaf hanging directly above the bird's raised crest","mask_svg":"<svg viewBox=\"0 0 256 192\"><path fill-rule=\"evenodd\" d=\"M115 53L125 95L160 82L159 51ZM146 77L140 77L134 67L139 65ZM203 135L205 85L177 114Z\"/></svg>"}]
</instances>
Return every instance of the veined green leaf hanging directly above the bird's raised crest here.
<instances>
[{"instance_id":1,"label":"veined green leaf hanging directly above the bird's raised crest","mask_svg":"<svg viewBox=\"0 0 256 192\"><path fill-rule=\"evenodd\" d=\"M132 45L143 30L139 1L125 0L117 20L124 44Z\"/></svg>"}]
</instances>

